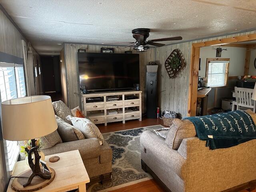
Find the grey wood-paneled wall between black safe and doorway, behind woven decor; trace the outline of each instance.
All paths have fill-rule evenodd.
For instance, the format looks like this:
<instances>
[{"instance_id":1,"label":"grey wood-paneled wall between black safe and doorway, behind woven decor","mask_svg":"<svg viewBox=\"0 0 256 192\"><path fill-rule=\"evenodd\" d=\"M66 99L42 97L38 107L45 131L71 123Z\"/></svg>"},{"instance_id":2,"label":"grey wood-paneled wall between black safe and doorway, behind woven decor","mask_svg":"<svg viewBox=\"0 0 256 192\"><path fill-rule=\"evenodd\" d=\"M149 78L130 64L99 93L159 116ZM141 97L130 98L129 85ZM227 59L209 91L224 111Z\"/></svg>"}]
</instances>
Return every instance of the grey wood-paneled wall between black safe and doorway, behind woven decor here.
<instances>
[{"instance_id":1,"label":"grey wood-paneled wall between black safe and doorway, behind woven decor","mask_svg":"<svg viewBox=\"0 0 256 192\"><path fill-rule=\"evenodd\" d=\"M184 42L156 48L156 62L159 65L158 70L158 105L161 110L172 110L181 114L182 118L188 113L188 89L190 78L190 59L192 43L211 41L233 36L255 34L256 31L244 32L240 34L208 38L192 42ZM170 79L164 68L164 62L174 49L180 49L184 55L186 66L174 79Z\"/></svg>"}]
</instances>

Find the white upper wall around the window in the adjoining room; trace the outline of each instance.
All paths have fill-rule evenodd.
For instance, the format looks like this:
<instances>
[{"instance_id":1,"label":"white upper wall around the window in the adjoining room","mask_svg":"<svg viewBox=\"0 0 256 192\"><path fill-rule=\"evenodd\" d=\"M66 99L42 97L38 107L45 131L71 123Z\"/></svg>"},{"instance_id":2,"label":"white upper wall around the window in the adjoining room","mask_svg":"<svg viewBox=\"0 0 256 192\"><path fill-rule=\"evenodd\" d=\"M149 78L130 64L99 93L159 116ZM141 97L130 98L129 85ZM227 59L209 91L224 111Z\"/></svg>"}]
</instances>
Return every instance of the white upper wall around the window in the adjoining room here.
<instances>
[{"instance_id":1,"label":"white upper wall around the window in the adjoining room","mask_svg":"<svg viewBox=\"0 0 256 192\"><path fill-rule=\"evenodd\" d=\"M209 46L200 48L201 70L199 76L205 77L206 74L206 59L216 58L216 48L219 46ZM230 58L229 75L228 76L242 76L244 75L244 62L246 48L240 47L221 47L223 50L221 58Z\"/></svg>"}]
</instances>

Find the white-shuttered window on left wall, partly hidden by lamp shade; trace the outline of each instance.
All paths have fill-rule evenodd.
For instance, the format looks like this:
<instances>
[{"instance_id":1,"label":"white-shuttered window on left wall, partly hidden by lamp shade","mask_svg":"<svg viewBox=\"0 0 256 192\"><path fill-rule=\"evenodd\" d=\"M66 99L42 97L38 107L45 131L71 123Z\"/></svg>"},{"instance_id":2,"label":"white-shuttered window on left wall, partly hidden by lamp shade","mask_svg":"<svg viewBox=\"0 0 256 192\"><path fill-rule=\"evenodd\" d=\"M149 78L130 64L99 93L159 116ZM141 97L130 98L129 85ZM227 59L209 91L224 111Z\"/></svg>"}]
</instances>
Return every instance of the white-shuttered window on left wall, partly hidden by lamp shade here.
<instances>
[{"instance_id":1,"label":"white-shuttered window on left wall, partly hidden by lamp shade","mask_svg":"<svg viewBox=\"0 0 256 192\"><path fill-rule=\"evenodd\" d=\"M24 67L22 64L0 63L1 102L26 96ZM8 165L12 170L18 159L19 147L16 141L7 141Z\"/></svg>"}]
</instances>

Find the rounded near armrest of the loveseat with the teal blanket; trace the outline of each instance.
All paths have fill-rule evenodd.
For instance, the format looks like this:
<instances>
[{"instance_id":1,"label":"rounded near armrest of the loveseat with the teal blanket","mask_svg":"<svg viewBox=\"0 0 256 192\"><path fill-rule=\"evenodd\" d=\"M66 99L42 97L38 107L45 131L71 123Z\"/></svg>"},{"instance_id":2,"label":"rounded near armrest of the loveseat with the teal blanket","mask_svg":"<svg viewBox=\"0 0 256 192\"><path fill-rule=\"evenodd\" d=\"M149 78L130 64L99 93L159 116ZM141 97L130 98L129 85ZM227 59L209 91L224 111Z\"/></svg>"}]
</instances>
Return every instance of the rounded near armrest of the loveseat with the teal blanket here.
<instances>
[{"instance_id":1,"label":"rounded near armrest of the loveseat with the teal blanket","mask_svg":"<svg viewBox=\"0 0 256 192\"><path fill-rule=\"evenodd\" d=\"M166 144L164 138L158 136L153 131L144 131L140 136L141 153L149 153L150 159L143 159L148 165L149 163L158 163L166 167L166 170L175 172L180 178L186 175L186 160ZM145 150L144 150L145 149ZM154 159L152 159L154 158ZM153 165L152 165L153 166ZM150 167L153 169L152 167Z\"/></svg>"}]
</instances>

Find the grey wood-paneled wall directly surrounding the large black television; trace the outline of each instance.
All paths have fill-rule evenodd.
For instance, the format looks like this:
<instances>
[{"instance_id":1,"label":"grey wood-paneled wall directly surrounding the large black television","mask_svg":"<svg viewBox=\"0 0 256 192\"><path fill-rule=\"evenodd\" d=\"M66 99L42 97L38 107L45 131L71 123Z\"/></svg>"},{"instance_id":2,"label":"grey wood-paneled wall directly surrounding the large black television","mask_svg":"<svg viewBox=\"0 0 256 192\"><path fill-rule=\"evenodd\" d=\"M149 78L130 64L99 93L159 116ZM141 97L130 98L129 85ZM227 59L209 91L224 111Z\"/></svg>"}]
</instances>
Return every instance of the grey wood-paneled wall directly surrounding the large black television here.
<instances>
[{"instance_id":1,"label":"grey wood-paneled wall directly surrounding the large black television","mask_svg":"<svg viewBox=\"0 0 256 192\"><path fill-rule=\"evenodd\" d=\"M125 51L132 51L132 48L120 46L106 46L106 45L88 45L88 44L64 44L64 55L66 64L66 91L68 98L68 106L74 108L81 105L79 94L79 77L78 77L78 49L86 49L86 52L100 53L100 48L114 48L115 53L124 53ZM133 53L137 53L134 52ZM155 61L155 48L151 48L147 52L140 53L140 90L142 90L142 112L146 112L145 102L145 76L146 65L150 61Z\"/></svg>"}]
</instances>

